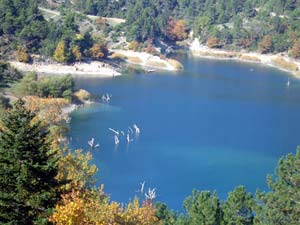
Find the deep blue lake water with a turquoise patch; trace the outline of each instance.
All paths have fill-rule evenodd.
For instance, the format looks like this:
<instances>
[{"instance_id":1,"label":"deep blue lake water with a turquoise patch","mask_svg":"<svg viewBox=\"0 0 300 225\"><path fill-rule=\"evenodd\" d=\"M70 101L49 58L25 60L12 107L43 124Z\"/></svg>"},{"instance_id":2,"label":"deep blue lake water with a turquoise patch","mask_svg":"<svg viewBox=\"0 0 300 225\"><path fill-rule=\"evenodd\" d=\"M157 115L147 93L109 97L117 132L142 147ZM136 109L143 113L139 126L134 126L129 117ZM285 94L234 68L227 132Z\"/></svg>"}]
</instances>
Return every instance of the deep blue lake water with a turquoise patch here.
<instances>
[{"instance_id":1,"label":"deep blue lake water with a turquoise patch","mask_svg":"<svg viewBox=\"0 0 300 225\"><path fill-rule=\"evenodd\" d=\"M193 189L222 199L237 185L266 190L266 175L300 143L300 80L263 65L179 59L178 73L76 78L77 88L112 98L72 113L71 147L100 143L98 184L116 201L140 197L142 181L175 210ZM140 136L129 144L121 136L116 147L108 128L134 123Z\"/></svg>"}]
</instances>

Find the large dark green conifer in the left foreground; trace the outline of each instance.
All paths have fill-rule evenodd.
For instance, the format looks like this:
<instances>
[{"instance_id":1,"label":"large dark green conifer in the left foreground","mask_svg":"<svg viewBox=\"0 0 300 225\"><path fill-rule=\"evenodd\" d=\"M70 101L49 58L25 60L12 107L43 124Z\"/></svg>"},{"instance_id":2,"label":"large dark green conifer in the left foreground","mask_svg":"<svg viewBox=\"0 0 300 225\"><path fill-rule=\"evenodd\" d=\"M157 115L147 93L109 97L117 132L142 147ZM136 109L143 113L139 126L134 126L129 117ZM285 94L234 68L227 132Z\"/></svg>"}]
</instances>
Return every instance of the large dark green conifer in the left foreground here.
<instances>
[{"instance_id":1,"label":"large dark green conifer in the left foreground","mask_svg":"<svg viewBox=\"0 0 300 225\"><path fill-rule=\"evenodd\" d=\"M35 114L18 100L0 130L0 224L47 224L58 200L56 153Z\"/></svg>"}]
</instances>

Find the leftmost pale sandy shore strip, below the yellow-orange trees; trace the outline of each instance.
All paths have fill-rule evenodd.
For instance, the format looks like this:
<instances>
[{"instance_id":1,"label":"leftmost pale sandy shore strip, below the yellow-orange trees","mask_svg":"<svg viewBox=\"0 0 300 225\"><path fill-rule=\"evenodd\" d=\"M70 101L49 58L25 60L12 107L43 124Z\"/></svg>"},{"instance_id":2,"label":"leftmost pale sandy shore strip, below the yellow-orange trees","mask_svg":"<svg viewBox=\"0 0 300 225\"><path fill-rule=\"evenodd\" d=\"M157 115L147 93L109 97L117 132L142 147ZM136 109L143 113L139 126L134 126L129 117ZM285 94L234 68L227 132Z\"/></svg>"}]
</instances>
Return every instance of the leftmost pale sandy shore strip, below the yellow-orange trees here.
<instances>
[{"instance_id":1,"label":"leftmost pale sandy shore strip, below the yellow-orange trees","mask_svg":"<svg viewBox=\"0 0 300 225\"><path fill-rule=\"evenodd\" d=\"M120 76L116 69L110 65L92 61L90 63L80 62L73 65L63 64L46 64L46 63L21 63L16 61L10 61L10 65L23 72L34 71L39 74L55 74L55 75L78 75L78 76L99 76L99 77L114 77Z\"/></svg>"}]
</instances>

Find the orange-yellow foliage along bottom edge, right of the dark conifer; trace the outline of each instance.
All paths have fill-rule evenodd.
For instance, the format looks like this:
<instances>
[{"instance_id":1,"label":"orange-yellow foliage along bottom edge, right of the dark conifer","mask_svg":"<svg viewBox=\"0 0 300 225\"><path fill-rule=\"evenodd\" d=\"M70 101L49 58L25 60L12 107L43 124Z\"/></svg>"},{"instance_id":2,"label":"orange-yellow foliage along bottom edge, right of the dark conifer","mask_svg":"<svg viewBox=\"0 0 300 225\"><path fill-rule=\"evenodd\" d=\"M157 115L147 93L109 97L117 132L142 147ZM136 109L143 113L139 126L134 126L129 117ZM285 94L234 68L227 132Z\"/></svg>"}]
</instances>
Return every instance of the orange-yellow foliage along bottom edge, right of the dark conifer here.
<instances>
[{"instance_id":1,"label":"orange-yellow foliage along bottom edge, right of the dark conifer","mask_svg":"<svg viewBox=\"0 0 300 225\"><path fill-rule=\"evenodd\" d=\"M117 202L109 202L101 189L97 193L73 191L64 195L55 209L50 221L58 225L154 225L158 222L152 204L140 206L135 199L124 208Z\"/></svg>"}]
</instances>

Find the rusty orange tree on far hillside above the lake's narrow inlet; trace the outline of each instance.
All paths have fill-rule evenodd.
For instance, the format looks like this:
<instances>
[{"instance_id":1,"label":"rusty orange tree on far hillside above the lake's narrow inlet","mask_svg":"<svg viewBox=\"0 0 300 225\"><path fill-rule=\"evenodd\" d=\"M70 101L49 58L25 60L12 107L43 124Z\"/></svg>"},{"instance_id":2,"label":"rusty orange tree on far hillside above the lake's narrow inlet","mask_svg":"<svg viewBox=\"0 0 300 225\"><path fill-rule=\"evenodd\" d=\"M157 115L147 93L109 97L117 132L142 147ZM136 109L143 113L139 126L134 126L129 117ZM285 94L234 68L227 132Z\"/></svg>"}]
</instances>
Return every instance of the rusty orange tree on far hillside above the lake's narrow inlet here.
<instances>
[{"instance_id":1,"label":"rusty orange tree on far hillside above the lake's narrow inlet","mask_svg":"<svg viewBox=\"0 0 300 225\"><path fill-rule=\"evenodd\" d=\"M186 24L184 20L169 19L167 36L172 41L182 41L187 38Z\"/></svg>"}]
</instances>

